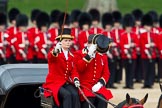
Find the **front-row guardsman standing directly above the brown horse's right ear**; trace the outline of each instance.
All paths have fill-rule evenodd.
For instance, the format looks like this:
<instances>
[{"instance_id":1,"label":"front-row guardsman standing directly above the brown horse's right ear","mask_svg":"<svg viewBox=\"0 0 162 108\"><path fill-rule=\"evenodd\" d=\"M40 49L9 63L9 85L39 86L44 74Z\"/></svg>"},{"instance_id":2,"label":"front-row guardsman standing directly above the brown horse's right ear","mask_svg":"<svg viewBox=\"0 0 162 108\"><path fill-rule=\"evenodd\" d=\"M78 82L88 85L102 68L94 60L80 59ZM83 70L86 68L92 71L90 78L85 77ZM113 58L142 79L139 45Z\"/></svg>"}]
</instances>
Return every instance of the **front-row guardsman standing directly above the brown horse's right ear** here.
<instances>
[{"instance_id":1,"label":"front-row guardsman standing directly above the brown horse's right ear","mask_svg":"<svg viewBox=\"0 0 162 108\"><path fill-rule=\"evenodd\" d=\"M150 14L142 18L144 33L140 34L140 51L144 72L144 85L142 88L152 88L155 80L155 59L157 47L157 34L152 32L153 19Z\"/></svg>"}]
</instances>

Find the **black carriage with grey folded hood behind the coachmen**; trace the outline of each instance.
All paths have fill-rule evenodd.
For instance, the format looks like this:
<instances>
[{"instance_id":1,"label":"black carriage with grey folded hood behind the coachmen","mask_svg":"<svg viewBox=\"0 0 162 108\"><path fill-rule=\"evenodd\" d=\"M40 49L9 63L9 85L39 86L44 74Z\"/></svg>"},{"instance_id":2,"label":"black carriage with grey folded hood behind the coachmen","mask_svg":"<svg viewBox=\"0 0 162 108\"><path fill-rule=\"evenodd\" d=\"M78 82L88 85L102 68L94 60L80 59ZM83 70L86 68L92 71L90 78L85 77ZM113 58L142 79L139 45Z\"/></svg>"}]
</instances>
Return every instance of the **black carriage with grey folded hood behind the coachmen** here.
<instances>
[{"instance_id":1,"label":"black carriage with grey folded hood behind the coachmen","mask_svg":"<svg viewBox=\"0 0 162 108\"><path fill-rule=\"evenodd\" d=\"M38 88L45 81L47 72L47 64L0 66L0 108L42 108L38 95L43 95Z\"/></svg>"}]
</instances>

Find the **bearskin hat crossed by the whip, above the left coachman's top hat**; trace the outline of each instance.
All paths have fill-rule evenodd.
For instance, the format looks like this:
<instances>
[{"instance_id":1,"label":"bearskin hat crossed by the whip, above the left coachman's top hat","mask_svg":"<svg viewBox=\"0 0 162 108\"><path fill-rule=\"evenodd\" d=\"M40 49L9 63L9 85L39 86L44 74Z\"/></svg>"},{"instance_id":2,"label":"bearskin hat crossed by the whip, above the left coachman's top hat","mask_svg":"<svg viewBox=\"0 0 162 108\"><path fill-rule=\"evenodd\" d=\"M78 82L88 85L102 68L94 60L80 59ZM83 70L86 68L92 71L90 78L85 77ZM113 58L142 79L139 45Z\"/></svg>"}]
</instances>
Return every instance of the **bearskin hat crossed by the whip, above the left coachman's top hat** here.
<instances>
[{"instance_id":1,"label":"bearskin hat crossed by the whip, above the left coachman's top hat","mask_svg":"<svg viewBox=\"0 0 162 108\"><path fill-rule=\"evenodd\" d=\"M60 28L63 25L65 14L66 14L65 25L70 25L70 16L69 16L69 14L68 13L65 13L65 12L62 12L62 13L60 13L60 15L58 17L58 19L59 19L58 22L59 22Z\"/></svg>"}]
</instances>

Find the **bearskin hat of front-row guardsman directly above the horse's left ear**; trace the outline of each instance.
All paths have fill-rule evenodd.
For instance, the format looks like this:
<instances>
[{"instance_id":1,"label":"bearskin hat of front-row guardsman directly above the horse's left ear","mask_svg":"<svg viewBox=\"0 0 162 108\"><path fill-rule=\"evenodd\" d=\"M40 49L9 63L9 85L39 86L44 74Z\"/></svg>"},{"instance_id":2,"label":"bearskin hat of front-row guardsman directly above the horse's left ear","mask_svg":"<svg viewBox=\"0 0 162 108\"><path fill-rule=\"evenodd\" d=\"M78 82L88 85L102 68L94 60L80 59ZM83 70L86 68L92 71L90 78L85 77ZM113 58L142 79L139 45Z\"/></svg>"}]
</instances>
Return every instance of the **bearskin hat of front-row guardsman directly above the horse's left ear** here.
<instances>
[{"instance_id":1,"label":"bearskin hat of front-row guardsman directly above the horse's left ear","mask_svg":"<svg viewBox=\"0 0 162 108\"><path fill-rule=\"evenodd\" d=\"M133 27L135 25L135 18L132 14L126 14L123 17L123 27Z\"/></svg>"}]
</instances>

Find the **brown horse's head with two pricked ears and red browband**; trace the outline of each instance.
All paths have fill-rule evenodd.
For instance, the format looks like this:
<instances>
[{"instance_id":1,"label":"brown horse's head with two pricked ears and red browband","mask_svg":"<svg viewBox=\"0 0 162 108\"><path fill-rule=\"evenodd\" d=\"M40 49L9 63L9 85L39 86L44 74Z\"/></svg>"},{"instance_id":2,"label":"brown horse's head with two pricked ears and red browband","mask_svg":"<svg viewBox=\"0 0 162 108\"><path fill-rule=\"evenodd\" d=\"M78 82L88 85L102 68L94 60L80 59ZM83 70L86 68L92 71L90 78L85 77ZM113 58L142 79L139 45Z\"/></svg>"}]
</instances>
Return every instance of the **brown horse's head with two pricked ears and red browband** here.
<instances>
[{"instance_id":1,"label":"brown horse's head with two pricked ears and red browband","mask_svg":"<svg viewBox=\"0 0 162 108\"><path fill-rule=\"evenodd\" d=\"M148 93L141 100L132 98L127 93L126 100L120 102L115 108L144 108L143 105L146 103L147 98L148 98Z\"/></svg>"}]
</instances>

